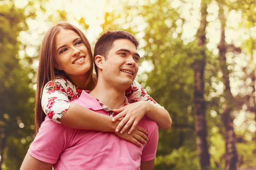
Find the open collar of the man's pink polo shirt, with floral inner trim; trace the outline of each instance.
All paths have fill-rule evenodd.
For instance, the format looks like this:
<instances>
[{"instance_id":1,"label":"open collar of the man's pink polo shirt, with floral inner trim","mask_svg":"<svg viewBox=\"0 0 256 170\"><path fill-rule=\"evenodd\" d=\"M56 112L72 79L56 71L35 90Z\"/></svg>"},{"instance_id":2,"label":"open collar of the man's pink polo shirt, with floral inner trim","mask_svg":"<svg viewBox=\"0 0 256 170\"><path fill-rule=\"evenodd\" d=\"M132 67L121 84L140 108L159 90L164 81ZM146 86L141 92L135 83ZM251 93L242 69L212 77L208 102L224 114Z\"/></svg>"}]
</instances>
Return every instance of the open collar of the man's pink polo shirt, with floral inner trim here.
<instances>
[{"instance_id":1,"label":"open collar of the man's pink polo shirt, with floral inner trim","mask_svg":"<svg viewBox=\"0 0 256 170\"><path fill-rule=\"evenodd\" d=\"M102 102L100 102L95 97L91 96L89 93L90 91L82 91L81 96L79 97L79 99L82 102L84 102L84 104L87 106L88 109L97 111L97 110L102 110L103 108L104 111L111 111L111 109L108 108L108 106L104 105ZM127 97L125 97L125 102L119 108L122 108L128 104L129 104L128 99Z\"/></svg>"}]
</instances>

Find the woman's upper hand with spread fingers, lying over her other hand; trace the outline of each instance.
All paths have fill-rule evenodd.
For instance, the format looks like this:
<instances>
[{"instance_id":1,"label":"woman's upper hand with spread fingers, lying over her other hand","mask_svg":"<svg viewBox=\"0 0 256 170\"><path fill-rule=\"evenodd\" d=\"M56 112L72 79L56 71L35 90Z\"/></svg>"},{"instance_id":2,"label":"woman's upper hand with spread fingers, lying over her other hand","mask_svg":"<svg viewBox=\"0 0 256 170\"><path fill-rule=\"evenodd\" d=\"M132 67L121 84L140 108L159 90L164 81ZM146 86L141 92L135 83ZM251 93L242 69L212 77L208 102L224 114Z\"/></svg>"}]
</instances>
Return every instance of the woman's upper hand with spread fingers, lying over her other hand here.
<instances>
[{"instance_id":1,"label":"woman's upper hand with spread fingers, lying over her other hand","mask_svg":"<svg viewBox=\"0 0 256 170\"><path fill-rule=\"evenodd\" d=\"M148 111L148 102L135 102L119 109L113 109L113 111L118 114L112 119L112 122L123 118L116 127L116 133L120 131L122 134L131 126L128 131L128 134L131 134L132 131L136 129L144 114Z\"/></svg>"}]
</instances>

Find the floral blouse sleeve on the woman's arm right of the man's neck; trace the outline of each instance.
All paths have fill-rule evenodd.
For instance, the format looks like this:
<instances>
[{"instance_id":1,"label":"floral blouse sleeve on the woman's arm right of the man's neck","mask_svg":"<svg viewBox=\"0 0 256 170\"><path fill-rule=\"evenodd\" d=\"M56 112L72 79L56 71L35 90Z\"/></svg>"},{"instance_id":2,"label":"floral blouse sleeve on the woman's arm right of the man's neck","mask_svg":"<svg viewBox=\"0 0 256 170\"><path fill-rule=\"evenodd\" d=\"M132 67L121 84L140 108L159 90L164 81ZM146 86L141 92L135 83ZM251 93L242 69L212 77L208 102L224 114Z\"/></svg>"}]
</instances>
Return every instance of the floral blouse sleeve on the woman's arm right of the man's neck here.
<instances>
[{"instance_id":1,"label":"floral blouse sleeve on the woman's arm right of the man's neck","mask_svg":"<svg viewBox=\"0 0 256 170\"><path fill-rule=\"evenodd\" d=\"M125 91L125 96L128 98L129 103L134 103L138 101L147 101L152 105L157 106L158 108L164 108L159 105L152 97L147 94L147 91L138 83L136 80L132 83L132 85Z\"/></svg>"}]
</instances>

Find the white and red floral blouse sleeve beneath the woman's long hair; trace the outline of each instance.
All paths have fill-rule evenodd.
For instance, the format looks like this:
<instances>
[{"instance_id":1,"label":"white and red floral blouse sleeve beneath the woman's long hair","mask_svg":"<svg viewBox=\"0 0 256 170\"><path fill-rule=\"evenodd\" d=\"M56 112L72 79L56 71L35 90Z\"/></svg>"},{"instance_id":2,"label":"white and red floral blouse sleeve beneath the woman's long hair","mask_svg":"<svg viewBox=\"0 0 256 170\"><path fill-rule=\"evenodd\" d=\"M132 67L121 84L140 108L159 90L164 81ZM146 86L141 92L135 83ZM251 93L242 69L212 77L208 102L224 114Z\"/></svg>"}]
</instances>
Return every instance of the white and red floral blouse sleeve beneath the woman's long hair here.
<instances>
[{"instance_id":1,"label":"white and red floral blouse sleeve beneath the woman's long hair","mask_svg":"<svg viewBox=\"0 0 256 170\"><path fill-rule=\"evenodd\" d=\"M44 113L56 123L61 123L61 117L71 105L70 101L78 99L76 87L65 79L55 79L55 89L52 81L44 86L41 105Z\"/></svg>"}]
</instances>

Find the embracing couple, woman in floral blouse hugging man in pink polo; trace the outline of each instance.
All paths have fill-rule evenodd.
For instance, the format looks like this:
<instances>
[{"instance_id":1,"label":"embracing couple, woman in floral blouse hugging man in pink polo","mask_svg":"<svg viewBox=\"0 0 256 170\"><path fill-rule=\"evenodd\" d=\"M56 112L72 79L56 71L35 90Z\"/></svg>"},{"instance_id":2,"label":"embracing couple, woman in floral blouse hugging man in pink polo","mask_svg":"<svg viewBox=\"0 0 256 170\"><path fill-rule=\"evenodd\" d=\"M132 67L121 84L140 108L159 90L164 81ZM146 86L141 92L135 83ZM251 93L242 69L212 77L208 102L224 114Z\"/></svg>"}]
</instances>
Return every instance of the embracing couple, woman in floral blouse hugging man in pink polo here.
<instances>
[{"instance_id":1,"label":"embracing couple, woman in floral blouse hugging man in pink polo","mask_svg":"<svg viewBox=\"0 0 256 170\"><path fill-rule=\"evenodd\" d=\"M138 46L128 32L108 31L92 54L75 26L61 22L47 31L35 139L21 170L153 170L158 127L168 130L172 120L134 80Z\"/></svg>"}]
</instances>

